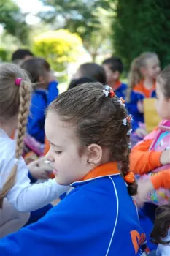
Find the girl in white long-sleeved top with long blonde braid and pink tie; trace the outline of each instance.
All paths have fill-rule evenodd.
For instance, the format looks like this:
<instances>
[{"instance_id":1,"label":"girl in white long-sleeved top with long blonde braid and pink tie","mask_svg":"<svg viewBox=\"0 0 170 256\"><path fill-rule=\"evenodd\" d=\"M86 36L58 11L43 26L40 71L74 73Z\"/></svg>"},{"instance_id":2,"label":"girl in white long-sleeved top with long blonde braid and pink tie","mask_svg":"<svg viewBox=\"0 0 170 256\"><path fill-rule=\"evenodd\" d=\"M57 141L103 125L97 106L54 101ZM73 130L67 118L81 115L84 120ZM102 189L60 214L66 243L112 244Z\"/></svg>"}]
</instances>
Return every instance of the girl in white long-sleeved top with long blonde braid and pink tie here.
<instances>
[{"instance_id":1,"label":"girl in white long-sleeved top with long blonde braid and pink tie","mask_svg":"<svg viewBox=\"0 0 170 256\"><path fill-rule=\"evenodd\" d=\"M0 237L7 222L6 203L21 212L35 211L55 200L67 187L55 180L31 186L28 167L21 157L30 108L31 83L26 72L15 64L0 65ZM18 129L18 136L11 139ZM7 197L3 205L4 197ZM28 219L28 218L27 218ZM13 230L12 230L13 231Z\"/></svg>"}]
</instances>

